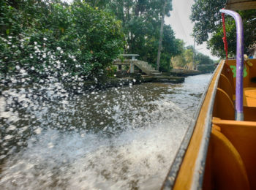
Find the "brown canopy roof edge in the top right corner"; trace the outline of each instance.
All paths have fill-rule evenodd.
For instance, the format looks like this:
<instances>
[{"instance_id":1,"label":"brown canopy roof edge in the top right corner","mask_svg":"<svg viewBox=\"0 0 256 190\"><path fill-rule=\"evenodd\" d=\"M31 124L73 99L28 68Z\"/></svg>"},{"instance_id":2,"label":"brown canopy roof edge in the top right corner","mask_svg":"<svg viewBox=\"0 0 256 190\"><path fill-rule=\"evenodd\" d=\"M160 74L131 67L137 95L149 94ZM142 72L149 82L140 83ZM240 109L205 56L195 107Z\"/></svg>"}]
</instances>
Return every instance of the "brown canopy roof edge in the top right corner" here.
<instances>
[{"instance_id":1,"label":"brown canopy roof edge in the top right corner","mask_svg":"<svg viewBox=\"0 0 256 190\"><path fill-rule=\"evenodd\" d=\"M231 10L256 9L256 0L227 0L225 8Z\"/></svg>"}]
</instances>

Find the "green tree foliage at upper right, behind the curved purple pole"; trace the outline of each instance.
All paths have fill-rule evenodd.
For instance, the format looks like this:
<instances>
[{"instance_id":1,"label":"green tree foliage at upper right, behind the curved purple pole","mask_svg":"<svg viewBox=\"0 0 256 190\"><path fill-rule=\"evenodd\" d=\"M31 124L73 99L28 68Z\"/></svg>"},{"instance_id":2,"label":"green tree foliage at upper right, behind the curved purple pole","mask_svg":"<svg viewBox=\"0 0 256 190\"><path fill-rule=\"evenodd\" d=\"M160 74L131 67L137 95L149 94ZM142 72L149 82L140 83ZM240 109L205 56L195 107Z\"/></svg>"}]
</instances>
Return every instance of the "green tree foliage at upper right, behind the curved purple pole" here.
<instances>
[{"instance_id":1,"label":"green tree foliage at upper right, behind the curved purple pole","mask_svg":"<svg viewBox=\"0 0 256 190\"><path fill-rule=\"evenodd\" d=\"M219 9L225 7L226 0L197 0L192 6L192 22L195 22L193 36L198 44L208 40L208 48L215 56L225 57L224 45L222 42L223 29L222 17ZM248 53L248 47L256 42L256 10L238 12L244 23L244 47ZM227 45L230 56L236 55L236 26L233 18L225 16L227 30Z\"/></svg>"}]
</instances>

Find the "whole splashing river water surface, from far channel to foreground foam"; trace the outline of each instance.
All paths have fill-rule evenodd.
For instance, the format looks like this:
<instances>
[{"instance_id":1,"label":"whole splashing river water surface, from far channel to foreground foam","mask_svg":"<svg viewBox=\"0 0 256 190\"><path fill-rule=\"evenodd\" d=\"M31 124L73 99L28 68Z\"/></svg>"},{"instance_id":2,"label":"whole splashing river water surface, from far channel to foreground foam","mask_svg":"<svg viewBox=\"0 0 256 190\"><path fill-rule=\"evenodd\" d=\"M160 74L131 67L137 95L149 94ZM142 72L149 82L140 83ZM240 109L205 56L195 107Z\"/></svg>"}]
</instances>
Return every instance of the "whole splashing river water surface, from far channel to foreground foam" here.
<instances>
[{"instance_id":1,"label":"whole splashing river water surface, from far channel to foreground foam","mask_svg":"<svg viewBox=\"0 0 256 190\"><path fill-rule=\"evenodd\" d=\"M159 189L210 78L3 90L0 189Z\"/></svg>"}]
</instances>

